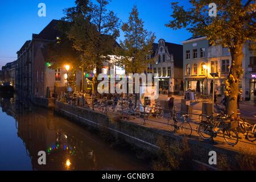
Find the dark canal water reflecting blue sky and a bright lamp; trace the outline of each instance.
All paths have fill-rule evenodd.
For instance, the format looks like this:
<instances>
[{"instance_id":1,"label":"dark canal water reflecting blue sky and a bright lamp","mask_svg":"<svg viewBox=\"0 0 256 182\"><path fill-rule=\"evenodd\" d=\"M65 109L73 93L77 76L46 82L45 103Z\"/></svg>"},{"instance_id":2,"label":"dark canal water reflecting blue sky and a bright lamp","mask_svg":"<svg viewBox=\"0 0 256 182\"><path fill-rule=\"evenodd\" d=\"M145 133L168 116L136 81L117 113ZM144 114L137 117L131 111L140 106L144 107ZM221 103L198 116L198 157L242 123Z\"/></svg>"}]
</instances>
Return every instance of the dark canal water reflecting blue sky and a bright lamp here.
<instances>
[{"instance_id":1,"label":"dark canal water reflecting blue sky and a bright lamp","mask_svg":"<svg viewBox=\"0 0 256 182\"><path fill-rule=\"evenodd\" d=\"M42 107L1 99L0 170L147 170L150 165L126 148ZM38 152L46 152L46 165Z\"/></svg>"}]
</instances>

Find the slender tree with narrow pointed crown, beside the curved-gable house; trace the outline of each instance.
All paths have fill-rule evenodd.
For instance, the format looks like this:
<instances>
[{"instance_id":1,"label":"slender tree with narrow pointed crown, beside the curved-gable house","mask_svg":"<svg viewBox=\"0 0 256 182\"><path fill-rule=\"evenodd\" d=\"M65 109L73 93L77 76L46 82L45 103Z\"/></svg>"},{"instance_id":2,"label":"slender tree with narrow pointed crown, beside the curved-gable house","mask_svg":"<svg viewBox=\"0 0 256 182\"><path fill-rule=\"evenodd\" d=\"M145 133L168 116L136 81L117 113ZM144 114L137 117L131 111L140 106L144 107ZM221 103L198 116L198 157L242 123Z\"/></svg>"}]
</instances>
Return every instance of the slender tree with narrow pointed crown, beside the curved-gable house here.
<instances>
[{"instance_id":1,"label":"slender tree with narrow pointed crown, beside the curved-gable house","mask_svg":"<svg viewBox=\"0 0 256 182\"><path fill-rule=\"evenodd\" d=\"M143 73L150 63L147 55L151 55L155 35L144 29L143 23L143 20L139 18L137 6L134 6L128 22L122 25L125 40L120 43L121 49L118 51L122 57L117 64L127 73ZM137 103L137 94L135 102Z\"/></svg>"}]
</instances>

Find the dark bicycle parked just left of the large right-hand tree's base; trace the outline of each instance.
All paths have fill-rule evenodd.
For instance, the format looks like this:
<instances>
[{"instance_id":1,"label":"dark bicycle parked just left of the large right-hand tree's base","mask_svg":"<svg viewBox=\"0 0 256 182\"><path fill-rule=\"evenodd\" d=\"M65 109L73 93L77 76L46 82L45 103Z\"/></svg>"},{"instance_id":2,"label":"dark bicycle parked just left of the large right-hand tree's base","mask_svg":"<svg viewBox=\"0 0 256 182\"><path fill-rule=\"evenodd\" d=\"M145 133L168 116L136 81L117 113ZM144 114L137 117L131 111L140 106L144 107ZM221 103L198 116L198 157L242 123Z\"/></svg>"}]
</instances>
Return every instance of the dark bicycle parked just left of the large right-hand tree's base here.
<instances>
[{"instance_id":1,"label":"dark bicycle parked just left of the large right-hand tree's base","mask_svg":"<svg viewBox=\"0 0 256 182\"><path fill-rule=\"evenodd\" d=\"M231 146L235 146L238 143L238 133L236 131L238 123L236 121L230 120L231 116L226 115L225 117L220 117L220 122L214 123L213 118L207 117L207 121L200 123L197 131L201 138L209 140L217 137L221 131L224 135L226 143ZM217 130L214 128L217 127Z\"/></svg>"}]
</instances>

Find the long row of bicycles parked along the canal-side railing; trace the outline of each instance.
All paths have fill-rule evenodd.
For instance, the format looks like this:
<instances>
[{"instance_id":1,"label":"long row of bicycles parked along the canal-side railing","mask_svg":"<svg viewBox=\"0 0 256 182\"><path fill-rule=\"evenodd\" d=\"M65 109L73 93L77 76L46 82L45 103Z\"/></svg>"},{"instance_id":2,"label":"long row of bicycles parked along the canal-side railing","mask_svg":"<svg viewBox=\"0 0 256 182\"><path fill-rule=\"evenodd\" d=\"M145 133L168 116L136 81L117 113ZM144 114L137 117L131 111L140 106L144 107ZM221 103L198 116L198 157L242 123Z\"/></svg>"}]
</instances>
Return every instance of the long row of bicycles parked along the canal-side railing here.
<instances>
[{"instance_id":1,"label":"long row of bicycles parked along the canal-side railing","mask_svg":"<svg viewBox=\"0 0 256 182\"><path fill-rule=\"evenodd\" d=\"M256 137L256 125L252 125L243 118L233 118L232 115L226 115L221 111L220 114L214 117L205 117L205 120L201 116L200 122L195 122L189 117L191 114L180 114L177 112L176 107L173 110L164 110L158 102L155 102L152 106L142 104L135 106L133 96L119 97L117 95L112 100L107 100L106 98L101 100L92 99L93 102L90 104L85 99L86 105L90 109L97 109L105 114L116 111L126 115L128 119L129 117L143 118L144 123L151 118L164 118L167 120L167 126L171 132L180 130L188 137L192 135L193 130L205 140L213 141L214 138L222 135L225 141L232 146L238 143L238 133L244 134L245 138L250 142L254 142ZM76 102L75 105L79 104L79 101L72 97L67 98L67 102L69 104L73 104L74 102ZM191 123L196 123L196 129L192 129Z\"/></svg>"}]
</instances>

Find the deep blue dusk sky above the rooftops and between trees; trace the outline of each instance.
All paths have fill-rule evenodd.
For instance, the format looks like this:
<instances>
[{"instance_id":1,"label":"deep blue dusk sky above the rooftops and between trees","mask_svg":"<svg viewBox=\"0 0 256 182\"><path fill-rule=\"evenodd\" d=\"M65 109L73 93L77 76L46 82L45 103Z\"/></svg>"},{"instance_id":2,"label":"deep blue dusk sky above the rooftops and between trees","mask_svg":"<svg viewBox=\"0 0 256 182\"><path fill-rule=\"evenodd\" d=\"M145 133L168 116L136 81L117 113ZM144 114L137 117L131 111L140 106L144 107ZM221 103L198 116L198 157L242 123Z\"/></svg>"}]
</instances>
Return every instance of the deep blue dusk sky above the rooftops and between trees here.
<instances>
[{"instance_id":1,"label":"deep blue dusk sky above the rooftops and between trees","mask_svg":"<svg viewBox=\"0 0 256 182\"><path fill-rule=\"evenodd\" d=\"M185 30L174 31L164 26L171 19L170 3L177 0L112 0L109 10L113 10L123 21L129 17L133 5L137 5L144 26L155 32L156 42L163 38L167 42L181 43L191 34ZM47 16L38 16L38 4L46 3ZM188 0L181 1L188 7ZM75 0L22 0L0 1L0 68L7 62L16 60L16 51L30 40L33 33L38 34L52 19L60 19L63 9L75 5ZM118 39L123 39L121 36Z\"/></svg>"}]
</instances>

